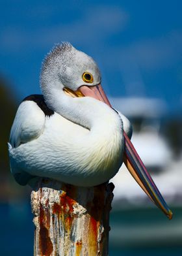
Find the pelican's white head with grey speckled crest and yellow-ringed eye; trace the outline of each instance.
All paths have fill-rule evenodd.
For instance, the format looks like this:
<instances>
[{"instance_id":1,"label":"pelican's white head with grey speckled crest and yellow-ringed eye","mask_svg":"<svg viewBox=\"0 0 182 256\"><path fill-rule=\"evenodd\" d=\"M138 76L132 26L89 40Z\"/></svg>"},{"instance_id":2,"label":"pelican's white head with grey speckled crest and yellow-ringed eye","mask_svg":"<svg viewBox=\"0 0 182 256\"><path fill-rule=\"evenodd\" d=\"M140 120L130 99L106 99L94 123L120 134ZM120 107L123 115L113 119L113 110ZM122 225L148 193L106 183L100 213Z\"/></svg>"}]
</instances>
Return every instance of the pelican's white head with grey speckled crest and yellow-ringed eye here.
<instances>
[{"instance_id":1,"label":"pelican's white head with grey speckled crest and yellow-ringed eye","mask_svg":"<svg viewBox=\"0 0 182 256\"><path fill-rule=\"evenodd\" d=\"M43 92L51 84L57 89L69 87L77 91L81 86L96 86L100 82L101 73L94 59L68 42L55 46L44 59L40 75Z\"/></svg>"}]
</instances>

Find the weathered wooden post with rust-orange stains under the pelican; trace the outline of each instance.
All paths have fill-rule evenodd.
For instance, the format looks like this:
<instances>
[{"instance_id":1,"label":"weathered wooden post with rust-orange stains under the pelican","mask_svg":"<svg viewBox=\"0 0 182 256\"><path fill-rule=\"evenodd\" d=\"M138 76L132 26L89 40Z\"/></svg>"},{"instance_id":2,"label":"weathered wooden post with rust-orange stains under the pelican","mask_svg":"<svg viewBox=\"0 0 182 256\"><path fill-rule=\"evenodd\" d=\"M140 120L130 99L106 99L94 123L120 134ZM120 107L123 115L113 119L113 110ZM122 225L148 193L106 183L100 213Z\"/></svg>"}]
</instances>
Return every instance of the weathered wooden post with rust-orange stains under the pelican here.
<instances>
[{"instance_id":1,"label":"weathered wooden post with rust-orange stains under the pelican","mask_svg":"<svg viewBox=\"0 0 182 256\"><path fill-rule=\"evenodd\" d=\"M31 193L34 256L108 255L114 185L75 187L40 178Z\"/></svg>"}]
</instances>

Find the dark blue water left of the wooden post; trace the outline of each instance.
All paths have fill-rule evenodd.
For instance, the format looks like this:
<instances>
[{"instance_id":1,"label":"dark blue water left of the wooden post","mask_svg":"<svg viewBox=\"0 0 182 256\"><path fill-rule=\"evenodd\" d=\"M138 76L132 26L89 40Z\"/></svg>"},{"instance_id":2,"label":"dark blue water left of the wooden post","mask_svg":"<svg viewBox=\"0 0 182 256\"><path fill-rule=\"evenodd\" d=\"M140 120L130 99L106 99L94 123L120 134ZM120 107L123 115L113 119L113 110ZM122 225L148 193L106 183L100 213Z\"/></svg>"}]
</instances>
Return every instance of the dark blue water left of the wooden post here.
<instances>
[{"instance_id":1,"label":"dark blue water left of the wooden post","mask_svg":"<svg viewBox=\"0 0 182 256\"><path fill-rule=\"evenodd\" d=\"M33 255L34 226L28 204L0 204L1 255Z\"/></svg>"}]
</instances>

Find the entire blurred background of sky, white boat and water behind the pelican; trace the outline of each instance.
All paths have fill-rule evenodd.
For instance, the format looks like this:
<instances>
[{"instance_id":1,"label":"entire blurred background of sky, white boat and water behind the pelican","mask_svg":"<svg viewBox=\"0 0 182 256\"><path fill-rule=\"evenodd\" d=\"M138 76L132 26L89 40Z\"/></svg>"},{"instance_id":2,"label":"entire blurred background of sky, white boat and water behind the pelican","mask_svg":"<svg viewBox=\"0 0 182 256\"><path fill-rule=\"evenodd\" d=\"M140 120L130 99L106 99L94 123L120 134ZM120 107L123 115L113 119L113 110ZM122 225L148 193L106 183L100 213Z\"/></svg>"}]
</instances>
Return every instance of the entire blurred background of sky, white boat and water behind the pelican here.
<instances>
[{"instance_id":1,"label":"entire blurred background of sky, white boat and water behind the pelican","mask_svg":"<svg viewBox=\"0 0 182 256\"><path fill-rule=\"evenodd\" d=\"M69 41L94 57L113 106L133 124L133 144L174 212L168 219L123 166L110 213L109 255L181 255L182 2L1 1L1 255L33 255L29 187L14 182L7 141L21 100L40 93L42 59Z\"/></svg>"}]
</instances>

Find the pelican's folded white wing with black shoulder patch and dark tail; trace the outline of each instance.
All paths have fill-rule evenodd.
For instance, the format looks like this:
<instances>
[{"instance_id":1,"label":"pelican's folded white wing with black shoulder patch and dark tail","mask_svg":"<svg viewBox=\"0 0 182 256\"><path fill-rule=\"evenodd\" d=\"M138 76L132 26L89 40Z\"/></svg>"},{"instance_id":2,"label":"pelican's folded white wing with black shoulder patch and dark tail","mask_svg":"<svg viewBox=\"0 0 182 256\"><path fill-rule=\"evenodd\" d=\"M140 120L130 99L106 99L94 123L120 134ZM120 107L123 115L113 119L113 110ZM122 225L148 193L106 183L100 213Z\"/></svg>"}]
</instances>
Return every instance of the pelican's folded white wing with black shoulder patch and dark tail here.
<instances>
[{"instance_id":1,"label":"pelican's folded white wing with black shoulder patch and dark tail","mask_svg":"<svg viewBox=\"0 0 182 256\"><path fill-rule=\"evenodd\" d=\"M42 95L30 95L19 105L10 131L8 148L11 172L20 185L26 185L34 176L14 166L14 161L11 161L14 150L21 144L36 140L44 132L46 116L52 114L54 112L47 107Z\"/></svg>"}]
</instances>

